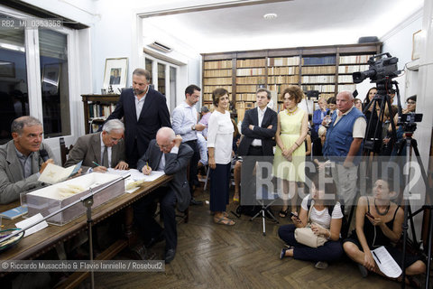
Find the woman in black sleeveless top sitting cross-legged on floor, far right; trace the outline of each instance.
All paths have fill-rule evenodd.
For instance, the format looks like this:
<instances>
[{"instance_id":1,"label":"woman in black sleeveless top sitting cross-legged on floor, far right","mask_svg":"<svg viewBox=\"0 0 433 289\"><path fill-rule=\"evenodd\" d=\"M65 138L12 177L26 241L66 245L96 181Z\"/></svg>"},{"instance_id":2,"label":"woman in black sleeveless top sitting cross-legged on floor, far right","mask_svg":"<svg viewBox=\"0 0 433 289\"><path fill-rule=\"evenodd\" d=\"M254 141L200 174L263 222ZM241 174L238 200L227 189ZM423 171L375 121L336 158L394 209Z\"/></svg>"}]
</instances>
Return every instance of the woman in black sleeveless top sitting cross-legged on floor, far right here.
<instances>
[{"instance_id":1,"label":"woman in black sleeveless top sitting cross-legged on floor, far right","mask_svg":"<svg viewBox=\"0 0 433 289\"><path fill-rule=\"evenodd\" d=\"M384 246L392 258L401 266L402 253L392 243L401 238L401 225L404 211L392 202L395 191L390 183L377 180L373 187L373 196L363 196L358 200L355 217L355 230L344 240L345 254L358 263L363 277L368 271L383 275L374 262L372 250ZM406 275L418 275L426 271L425 264L417 256L406 254ZM410 280L410 278L408 278Z\"/></svg>"}]
</instances>

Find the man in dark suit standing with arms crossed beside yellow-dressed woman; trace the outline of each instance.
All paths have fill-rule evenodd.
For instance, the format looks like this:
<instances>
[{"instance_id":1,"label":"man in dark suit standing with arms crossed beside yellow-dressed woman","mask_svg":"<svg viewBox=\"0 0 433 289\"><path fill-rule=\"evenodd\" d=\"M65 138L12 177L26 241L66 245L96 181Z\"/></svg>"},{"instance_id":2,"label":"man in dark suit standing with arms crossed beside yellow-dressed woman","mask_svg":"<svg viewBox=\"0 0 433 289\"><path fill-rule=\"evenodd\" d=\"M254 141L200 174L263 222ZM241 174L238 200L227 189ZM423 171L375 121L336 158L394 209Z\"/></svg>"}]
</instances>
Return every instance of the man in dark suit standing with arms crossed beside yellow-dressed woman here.
<instances>
[{"instance_id":1,"label":"man in dark suit standing with arms crossed beside yellow-dressed woman","mask_svg":"<svg viewBox=\"0 0 433 289\"><path fill-rule=\"evenodd\" d=\"M272 139L277 131L278 117L277 113L267 107L271 101L271 91L268 89L258 89L257 107L249 109L245 112L242 122L242 134L244 137L239 144L237 153L243 156L242 163L242 183L249 183L247 180L252 180L253 168L256 161L266 161L266 158L260 156L272 156L273 146L275 141ZM256 157L254 157L256 156ZM259 157L257 157L259 156ZM269 160L272 162L272 158ZM250 191L248 184L242 191ZM246 189L246 190L245 190ZM247 196L244 195L244 200ZM252 197L252 196L248 196ZM255 197L255 193L254 193ZM249 200L250 198L248 198ZM250 202L250 201L247 201ZM243 201L245 203L245 201ZM252 204L252 203L249 203Z\"/></svg>"}]
</instances>

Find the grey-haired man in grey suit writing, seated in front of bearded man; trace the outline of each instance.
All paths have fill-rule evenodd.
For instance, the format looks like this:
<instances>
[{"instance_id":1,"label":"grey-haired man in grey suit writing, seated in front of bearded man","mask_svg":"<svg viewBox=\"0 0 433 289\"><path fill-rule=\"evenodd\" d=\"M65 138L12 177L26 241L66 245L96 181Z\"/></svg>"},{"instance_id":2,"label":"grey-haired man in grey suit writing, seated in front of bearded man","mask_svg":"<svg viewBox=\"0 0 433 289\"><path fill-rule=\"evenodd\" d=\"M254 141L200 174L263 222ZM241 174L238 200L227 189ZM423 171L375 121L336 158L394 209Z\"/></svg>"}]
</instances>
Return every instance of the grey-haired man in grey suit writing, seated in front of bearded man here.
<instances>
[{"instance_id":1,"label":"grey-haired man in grey suit writing, seated in front of bearded man","mask_svg":"<svg viewBox=\"0 0 433 289\"><path fill-rule=\"evenodd\" d=\"M107 121L102 132L78 137L69 152L65 167L83 161L83 172L106 172L107 168L127 170L124 162L124 124L118 119Z\"/></svg>"}]
</instances>

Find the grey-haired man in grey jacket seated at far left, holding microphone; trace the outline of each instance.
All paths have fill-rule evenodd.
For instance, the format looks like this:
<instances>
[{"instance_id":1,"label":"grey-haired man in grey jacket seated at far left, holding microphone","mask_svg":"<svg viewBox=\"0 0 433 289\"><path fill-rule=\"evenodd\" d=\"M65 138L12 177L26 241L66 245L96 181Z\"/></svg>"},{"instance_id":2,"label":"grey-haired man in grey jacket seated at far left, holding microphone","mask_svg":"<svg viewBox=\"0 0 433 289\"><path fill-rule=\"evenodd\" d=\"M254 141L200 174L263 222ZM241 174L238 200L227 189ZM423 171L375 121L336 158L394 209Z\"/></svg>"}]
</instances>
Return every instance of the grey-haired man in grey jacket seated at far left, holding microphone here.
<instances>
[{"instance_id":1,"label":"grey-haired man in grey jacket seated at far left, holding microphone","mask_svg":"<svg viewBox=\"0 0 433 289\"><path fill-rule=\"evenodd\" d=\"M41 172L54 163L50 147L42 143L43 128L37 118L14 119L11 132L13 139L0 145L0 204L20 199L23 191L41 188ZM42 159L41 150L46 151L48 160Z\"/></svg>"}]
</instances>

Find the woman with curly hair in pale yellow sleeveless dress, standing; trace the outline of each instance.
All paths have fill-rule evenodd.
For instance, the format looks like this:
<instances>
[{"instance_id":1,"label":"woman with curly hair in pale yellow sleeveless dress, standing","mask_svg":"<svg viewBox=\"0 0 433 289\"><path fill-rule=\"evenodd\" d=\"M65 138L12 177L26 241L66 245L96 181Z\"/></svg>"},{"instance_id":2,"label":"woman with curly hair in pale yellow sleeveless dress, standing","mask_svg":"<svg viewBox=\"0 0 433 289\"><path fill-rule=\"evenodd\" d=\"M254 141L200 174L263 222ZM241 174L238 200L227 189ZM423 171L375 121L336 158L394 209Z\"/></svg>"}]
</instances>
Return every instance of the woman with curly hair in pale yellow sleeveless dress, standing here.
<instances>
[{"instance_id":1,"label":"woman with curly hair in pale yellow sleeveless dress, standing","mask_svg":"<svg viewBox=\"0 0 433 289\"><path fill-rule=\"evenodd\" d=\"M298 108L299 102L304 98L304 93L299 87L290 86L284 89L281 98L285 109L278 114L273 175L282 182L283 206L280 217L285 218L289 213L289 200L291 200L291 211L297 211L296 182L305 181L304 139L309 132L309 116L307 112Z\"/></svg>"}]
</instances>

